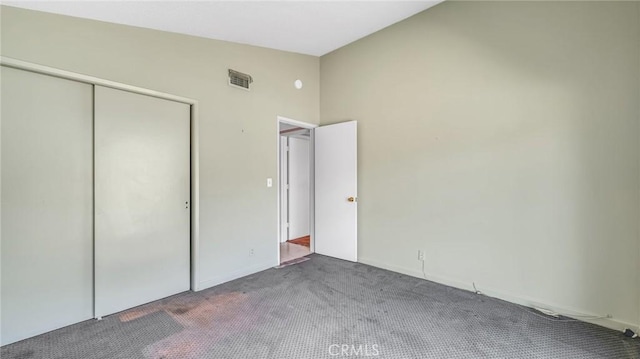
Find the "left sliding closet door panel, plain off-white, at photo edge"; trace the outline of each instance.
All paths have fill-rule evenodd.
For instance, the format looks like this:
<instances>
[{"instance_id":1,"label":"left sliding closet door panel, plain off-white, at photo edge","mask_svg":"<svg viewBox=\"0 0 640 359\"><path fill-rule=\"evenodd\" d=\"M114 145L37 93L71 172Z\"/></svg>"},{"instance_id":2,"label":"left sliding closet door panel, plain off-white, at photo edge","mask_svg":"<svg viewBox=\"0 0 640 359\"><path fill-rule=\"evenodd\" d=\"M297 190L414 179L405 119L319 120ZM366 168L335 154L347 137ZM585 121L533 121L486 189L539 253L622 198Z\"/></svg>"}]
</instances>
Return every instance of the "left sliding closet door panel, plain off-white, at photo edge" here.
<instances>
[{"instance_id":1,"label":"left sliding closet door panel, plain off-white, at photo edge","mask_svg":"<svg viewBox=\"0 0 640 359\"><path fill-rule=\"evenodd\" d=\"M93 87L0 75L4 345L93 317Z\"/></svg>"}]
</instances>

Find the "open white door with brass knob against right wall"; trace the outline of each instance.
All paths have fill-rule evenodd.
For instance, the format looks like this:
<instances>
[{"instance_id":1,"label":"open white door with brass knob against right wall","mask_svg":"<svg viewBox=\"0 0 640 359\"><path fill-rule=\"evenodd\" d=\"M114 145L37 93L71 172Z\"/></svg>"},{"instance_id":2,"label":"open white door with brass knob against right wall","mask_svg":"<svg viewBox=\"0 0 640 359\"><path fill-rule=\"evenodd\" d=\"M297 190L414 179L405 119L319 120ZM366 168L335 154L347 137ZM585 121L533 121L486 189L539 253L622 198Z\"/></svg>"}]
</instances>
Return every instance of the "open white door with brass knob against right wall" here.
<instances>
[{"instance_id":1,"label":"open white door with brass knob against right wall","mask_svg":"<svg viewBox=\"0 0 640 359\"><path fill-rule=\"evenodd\" d=\"M357 124L315 129L315 250L358 260Z\"/></svg>"}]
</instances>

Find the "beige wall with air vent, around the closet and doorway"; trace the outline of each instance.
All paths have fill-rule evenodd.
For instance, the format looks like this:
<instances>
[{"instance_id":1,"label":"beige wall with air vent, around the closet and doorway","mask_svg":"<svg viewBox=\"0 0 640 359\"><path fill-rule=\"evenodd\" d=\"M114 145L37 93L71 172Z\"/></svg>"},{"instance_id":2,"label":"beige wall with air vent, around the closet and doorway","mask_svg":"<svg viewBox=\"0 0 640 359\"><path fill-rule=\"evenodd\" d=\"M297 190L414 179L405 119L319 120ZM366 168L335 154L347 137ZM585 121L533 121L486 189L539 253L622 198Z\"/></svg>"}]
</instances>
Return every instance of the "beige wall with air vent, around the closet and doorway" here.
<instances>
[{"instance_id":1,"label":"beige wall with air vent, around the closet and doorway","mask_svg":"<svg viewBox=\"0 0 640 359\"><path fill-rule=\"evenodd\" d=\"M276 116L318 122L317 57L1 9L2 56L198 100L200 285L276 264ZM227 85L228 68L253 76L251 92Z\"/></svg>"}]
</instances>

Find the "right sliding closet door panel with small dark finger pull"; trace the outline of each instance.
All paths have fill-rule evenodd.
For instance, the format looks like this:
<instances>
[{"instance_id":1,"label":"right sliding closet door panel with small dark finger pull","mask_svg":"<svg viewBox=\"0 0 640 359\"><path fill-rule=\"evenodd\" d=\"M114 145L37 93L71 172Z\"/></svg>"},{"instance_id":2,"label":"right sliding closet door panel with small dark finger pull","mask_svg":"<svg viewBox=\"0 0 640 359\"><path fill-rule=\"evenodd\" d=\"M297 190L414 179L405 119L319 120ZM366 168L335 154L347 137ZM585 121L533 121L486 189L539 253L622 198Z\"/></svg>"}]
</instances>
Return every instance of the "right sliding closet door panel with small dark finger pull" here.
<instances>
[{"instance_id":1,"label":"right sliding closet door panel with small dark finger pull","mask_svg":"<svg viewBox=\"0 0 640 359\"><path fill-rule=\"evenodd\" d=\"M96 86L96 316L189 289L190 106Z\"/></svg>"}]
</instances>

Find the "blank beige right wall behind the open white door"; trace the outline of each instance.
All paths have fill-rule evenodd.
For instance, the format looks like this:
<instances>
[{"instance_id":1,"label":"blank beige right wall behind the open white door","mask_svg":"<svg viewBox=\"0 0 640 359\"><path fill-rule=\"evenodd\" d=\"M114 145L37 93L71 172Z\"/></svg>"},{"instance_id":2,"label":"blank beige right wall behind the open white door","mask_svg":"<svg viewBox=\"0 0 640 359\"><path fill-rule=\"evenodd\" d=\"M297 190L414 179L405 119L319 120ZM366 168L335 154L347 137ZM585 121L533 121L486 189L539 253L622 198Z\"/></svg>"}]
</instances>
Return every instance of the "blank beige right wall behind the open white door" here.
<instances>
[{"instance_id":1,"label":"blank beige right wall behind the open white door","mask_svg":"<svg viewBox=\"0 0 640 359\"><path fill-rule=\"evenodd\" d=\"M639 324L640 4L446 2L320 61L362 262Z\"/></svg>"}]
</instances>

